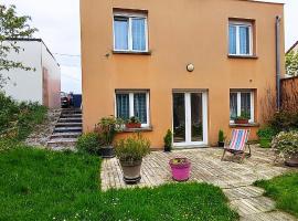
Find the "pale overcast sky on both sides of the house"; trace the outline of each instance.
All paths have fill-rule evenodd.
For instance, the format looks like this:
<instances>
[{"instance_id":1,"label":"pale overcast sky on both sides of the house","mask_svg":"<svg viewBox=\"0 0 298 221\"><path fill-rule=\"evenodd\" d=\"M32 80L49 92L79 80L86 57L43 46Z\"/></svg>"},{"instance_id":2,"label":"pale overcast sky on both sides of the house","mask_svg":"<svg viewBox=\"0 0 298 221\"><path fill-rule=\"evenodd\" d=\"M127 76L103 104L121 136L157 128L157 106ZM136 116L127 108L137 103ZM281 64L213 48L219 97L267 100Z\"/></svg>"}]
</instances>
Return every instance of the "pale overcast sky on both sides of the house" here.
<instances>
[{"instance_id":1,"label":"pale overcast sky on both sides of the house","mask_svg":"<svg viewBox=\"0 0 298 221\"><path fill-rule=\"evenodd\" d=\"M267 1L286 3L287 50L298 41L298 0ZM62 91L81 93L79 1L0 0L0 2L15 4L19 14L31 15L32 25L39 29L35 36L43 39L61 64Z\"/></svg>"}]
</instances>

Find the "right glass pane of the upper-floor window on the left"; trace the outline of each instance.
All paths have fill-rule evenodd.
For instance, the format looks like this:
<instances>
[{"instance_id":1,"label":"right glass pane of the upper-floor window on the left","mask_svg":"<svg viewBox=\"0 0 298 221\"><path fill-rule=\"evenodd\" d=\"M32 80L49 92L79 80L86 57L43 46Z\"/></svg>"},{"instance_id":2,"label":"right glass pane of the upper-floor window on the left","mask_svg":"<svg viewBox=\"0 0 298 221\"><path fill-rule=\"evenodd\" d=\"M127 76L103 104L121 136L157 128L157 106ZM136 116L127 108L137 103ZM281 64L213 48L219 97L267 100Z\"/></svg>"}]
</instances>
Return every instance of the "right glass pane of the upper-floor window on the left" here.
<instances>
[{"instance_id":1,"label":"right glass pane of the upper-floor window on the left","mask_svg":"<svg viewBox=\"0 0 298 221\"><path fill-rule=\"evenodd\" d=\"M146 24L143 18L132 19L132 50L146 51Z\"/></svg>"}]
</instances>

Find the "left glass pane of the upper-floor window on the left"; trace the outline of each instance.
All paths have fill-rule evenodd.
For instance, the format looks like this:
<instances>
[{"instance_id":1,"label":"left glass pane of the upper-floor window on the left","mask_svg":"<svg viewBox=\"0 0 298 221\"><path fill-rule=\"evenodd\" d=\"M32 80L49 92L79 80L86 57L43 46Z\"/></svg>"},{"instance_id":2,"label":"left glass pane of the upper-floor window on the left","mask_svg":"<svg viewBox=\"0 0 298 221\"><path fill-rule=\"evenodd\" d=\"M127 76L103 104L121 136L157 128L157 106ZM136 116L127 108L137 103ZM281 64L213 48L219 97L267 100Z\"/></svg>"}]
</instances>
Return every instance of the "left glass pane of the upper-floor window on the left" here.
<instances>
[{"instance_id":1,"label":"left glass pane of the upper-floor window on the left","mask_svg":"<svg viewBox=\"0 0 298 221\"><path fill-rule=\"evenodd\" d=\"M128 50L128 19L114 19L115 50Z\"/></svg>"}]
</instances>

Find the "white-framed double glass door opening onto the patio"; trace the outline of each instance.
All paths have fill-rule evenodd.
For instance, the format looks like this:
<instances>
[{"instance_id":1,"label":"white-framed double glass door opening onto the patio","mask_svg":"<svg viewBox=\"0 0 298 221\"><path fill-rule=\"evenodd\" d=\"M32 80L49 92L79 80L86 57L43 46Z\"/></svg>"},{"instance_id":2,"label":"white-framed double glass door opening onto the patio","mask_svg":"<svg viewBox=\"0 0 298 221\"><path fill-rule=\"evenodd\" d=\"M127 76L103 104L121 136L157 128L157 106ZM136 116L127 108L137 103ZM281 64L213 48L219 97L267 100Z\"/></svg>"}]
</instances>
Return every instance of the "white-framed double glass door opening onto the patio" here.
<instances>
[{"instance_id":1,"label":"white-framed double glass door opening onto the patio","mask_svg":"<svg viewBox=\"0 0 298 221\"><path fill-rule=\"evenodd\" d=\"M175 147L207 144L205 93L173 93L173 143Z\"/></svg>"}]
</instances>

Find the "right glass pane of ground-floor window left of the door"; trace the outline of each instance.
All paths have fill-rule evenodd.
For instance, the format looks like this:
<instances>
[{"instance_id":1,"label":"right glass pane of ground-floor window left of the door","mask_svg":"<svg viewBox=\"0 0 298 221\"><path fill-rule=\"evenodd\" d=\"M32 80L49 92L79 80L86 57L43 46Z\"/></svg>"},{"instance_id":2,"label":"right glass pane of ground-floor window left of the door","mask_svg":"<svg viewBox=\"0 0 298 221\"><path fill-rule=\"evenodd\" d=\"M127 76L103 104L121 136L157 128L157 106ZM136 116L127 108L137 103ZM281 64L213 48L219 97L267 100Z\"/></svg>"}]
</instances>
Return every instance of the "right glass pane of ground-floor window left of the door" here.
<instances>
[{"instance_id":1,"label":"right glass pane of ground-floor window left of the door","mask_svg":"<svg viewBox=\"0 0 298 221\"><path fill-rule=\"evenodd\" d=\"M134 115L140 119L141 124L147 124L146 93L134 94Z\"/></svg>"}]
</instances>

